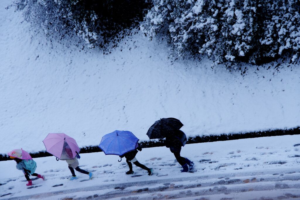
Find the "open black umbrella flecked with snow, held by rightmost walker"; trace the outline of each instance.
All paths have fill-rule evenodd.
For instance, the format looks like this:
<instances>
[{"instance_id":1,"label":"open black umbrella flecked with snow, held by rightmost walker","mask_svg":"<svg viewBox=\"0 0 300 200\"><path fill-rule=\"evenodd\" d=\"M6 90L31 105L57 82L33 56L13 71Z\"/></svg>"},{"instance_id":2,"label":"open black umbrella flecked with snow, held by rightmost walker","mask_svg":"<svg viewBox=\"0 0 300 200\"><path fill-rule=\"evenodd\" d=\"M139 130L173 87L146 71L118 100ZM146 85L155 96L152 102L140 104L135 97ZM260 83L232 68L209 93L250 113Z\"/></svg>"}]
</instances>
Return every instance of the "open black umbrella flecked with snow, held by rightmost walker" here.
<instances>
[{"instance_id":1,"label":"open black umbrella flecked with snow, held by rightmost walker","mask_svg":"<svg viewBox=\"0 0 300 200\"><path fill-rule=\"evenodd\" d=\"M161 118L149 128L147 136L150 139L163 139L172 135L175 130L179 130L183 124L176 118Z\"/></svg>"}]
</instances>

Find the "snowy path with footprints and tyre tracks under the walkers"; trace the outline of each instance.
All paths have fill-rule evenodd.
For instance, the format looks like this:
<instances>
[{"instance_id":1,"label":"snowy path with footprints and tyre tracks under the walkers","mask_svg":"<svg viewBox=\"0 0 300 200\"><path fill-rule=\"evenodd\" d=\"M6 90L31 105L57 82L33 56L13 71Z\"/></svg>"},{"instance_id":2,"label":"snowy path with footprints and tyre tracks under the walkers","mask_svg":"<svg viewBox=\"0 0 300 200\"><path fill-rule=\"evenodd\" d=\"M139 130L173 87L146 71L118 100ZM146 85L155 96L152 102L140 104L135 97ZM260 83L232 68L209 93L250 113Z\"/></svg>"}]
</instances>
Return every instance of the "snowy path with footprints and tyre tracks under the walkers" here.
<instances>
[{"instance_id":1,"label":"snowy path with footprints and tyre tracks under the walkers","mask_svg":"<svg viewBox=\"0 0 300 200\"><path fill-rule=\"evenodd\" d=\"M46 181L32 187L14 161L2 161L0 199L300 199L299 143L295 135L186 145L182 156L194 161L193 173L180 173L168 148L146 148L137 159L152 176L136 166L125 175L128 166L117 156L81 154L81 168L94 177L76 172L75 181L64 161L44 157L35 160Z\"/></svg>"}]
</instances>

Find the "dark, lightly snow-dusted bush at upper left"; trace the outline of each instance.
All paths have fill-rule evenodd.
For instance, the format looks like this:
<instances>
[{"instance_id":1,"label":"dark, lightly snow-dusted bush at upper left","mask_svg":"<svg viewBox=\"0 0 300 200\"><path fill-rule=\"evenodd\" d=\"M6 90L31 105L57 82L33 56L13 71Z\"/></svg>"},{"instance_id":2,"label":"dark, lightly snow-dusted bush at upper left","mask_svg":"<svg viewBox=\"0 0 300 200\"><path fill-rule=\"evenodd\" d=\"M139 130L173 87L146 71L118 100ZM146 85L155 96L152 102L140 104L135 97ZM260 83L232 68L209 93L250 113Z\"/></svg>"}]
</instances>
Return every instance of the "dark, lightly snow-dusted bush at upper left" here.
<instances>
[{"instance_id":1,"label":"dark, lightly snow-dusted bush at upper left","mask_svg":"<svg viewBox=\"0 0 300 200\"><path fill-rule=\"evenodd\" d=\"M107 47L116 45L120 31L128 33L143 19L147 6L144 0L13 0L7 8L22 11L26 21L48 35L75 33L89 47Z\"/></svg>"}]
</instances>

